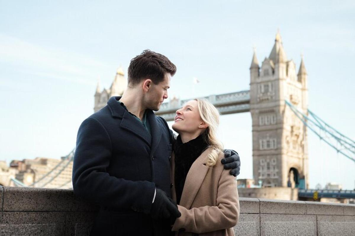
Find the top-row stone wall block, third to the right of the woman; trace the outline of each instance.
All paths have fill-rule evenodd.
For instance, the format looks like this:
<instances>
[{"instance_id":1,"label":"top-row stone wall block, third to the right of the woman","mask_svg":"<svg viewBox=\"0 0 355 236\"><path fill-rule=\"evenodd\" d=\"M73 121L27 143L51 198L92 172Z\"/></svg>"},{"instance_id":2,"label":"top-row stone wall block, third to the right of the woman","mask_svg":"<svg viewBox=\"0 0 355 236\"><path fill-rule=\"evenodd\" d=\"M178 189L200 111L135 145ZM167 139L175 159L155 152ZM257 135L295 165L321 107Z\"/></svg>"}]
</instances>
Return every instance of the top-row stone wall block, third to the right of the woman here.
<instances>
[{"instance_id":1,"label":"top-row stone wall block, third to the right of the woman","mask_svg":"<svg viewBox=\"0 0 355 236\"><path fill-rule=\"evenodd\" d=\"M344 215L343 203L306 201L307 215Z\"/></svg>"}]
</instances>

